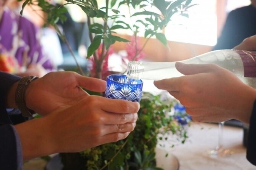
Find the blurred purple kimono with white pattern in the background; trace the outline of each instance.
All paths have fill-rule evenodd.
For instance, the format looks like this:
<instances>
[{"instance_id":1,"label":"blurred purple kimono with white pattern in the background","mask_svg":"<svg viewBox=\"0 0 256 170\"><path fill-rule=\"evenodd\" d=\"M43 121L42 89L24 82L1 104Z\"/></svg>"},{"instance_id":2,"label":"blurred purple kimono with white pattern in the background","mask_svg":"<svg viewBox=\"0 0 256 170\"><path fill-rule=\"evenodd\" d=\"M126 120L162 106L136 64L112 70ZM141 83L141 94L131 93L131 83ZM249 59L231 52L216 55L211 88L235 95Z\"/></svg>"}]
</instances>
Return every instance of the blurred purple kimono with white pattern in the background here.
<instances>
[{"instance_id":1,"label":"blurred purple kimono with white pattern in the background","mask_svg":"<svg viewBox=\"0 0 256 170\"><path fill-rule=\"evenodd\" d=\"M0 50L15 56L20 66L40 64L47 71L54 66L48 56L43 55L38 28L28 19L5 9L0 20Z\"/></svg>"}]
</instances>

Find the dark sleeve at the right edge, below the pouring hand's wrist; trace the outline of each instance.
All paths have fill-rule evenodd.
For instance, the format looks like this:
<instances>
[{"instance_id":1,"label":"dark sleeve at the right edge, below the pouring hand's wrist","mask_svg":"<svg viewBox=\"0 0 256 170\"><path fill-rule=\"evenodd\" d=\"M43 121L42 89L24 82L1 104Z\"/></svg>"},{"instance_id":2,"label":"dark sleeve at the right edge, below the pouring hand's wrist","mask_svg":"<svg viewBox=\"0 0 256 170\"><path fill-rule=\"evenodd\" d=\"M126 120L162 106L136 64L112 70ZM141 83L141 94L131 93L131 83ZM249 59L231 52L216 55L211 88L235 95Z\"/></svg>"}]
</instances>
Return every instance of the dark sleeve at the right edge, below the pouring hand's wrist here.
<instances>
[{"instance_id":1,"label":"dark sleeve at the right edge, below the pouring hand's wrist","mask_svg":"<svg viewBox=\"0 0 256 170\"><path fill-rule=\"evenodd\" d=\"M256 100L254 101L251 114L246 158L251 164L256 165Z\"/></svg>"}]
</instances>

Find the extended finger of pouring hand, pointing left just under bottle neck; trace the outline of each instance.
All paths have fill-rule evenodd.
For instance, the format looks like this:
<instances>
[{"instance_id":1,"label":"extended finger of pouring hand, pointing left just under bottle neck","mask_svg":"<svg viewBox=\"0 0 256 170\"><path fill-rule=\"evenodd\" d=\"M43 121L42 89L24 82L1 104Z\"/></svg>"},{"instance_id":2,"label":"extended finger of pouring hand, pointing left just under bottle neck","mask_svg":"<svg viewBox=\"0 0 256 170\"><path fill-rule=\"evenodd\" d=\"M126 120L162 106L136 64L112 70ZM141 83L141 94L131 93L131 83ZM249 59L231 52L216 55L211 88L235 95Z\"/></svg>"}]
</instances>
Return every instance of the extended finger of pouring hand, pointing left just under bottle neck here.
<instances>
[{"instance_id":1,"label":"extended finger of pouring hand, pointing left just under bottle neck","mask_svg":"<svg viewBox=\"0 0 256 170\"><path fill-rule=\"evenodd\" d=\"M183 81L183 77L184 76L157 80L157 81L154 81L154 85L161 90L179 91L181 82Z\"/></svg>"}]
</instances>

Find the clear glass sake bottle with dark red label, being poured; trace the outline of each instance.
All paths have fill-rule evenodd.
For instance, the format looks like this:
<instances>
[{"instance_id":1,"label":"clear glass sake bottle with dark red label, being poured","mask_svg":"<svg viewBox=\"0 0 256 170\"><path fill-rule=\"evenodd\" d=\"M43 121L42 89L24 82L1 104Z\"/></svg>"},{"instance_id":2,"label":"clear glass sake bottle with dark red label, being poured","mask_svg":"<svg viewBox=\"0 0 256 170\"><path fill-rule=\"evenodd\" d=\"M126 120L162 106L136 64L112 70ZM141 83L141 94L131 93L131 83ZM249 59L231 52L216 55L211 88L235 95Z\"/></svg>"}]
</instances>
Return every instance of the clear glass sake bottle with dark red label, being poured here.
<instances>
[{"instance_id":1,"label":"clear glass sake bottle with dark red label, being poured","mask_svg":"<svg viewBox=\"0 0 256 170\"><path fill-rule=\"evenodd\" d=\"M214 63L236 74L244 83L256 88L256 51L215 50L181 61L186 64ZM131 79L161 80L179 77L176 62L130 61L127 77Z\"/></svg>"}]
</instances>

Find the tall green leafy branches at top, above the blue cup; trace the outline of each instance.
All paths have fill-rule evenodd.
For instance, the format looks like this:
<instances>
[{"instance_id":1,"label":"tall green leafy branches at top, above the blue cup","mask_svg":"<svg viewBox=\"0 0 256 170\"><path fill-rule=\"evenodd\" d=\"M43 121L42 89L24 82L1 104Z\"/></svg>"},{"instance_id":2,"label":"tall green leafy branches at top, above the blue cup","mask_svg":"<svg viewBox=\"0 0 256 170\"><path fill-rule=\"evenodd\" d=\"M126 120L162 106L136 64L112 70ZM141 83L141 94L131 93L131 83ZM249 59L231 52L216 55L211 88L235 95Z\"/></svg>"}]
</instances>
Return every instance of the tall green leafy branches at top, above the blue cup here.
<instances>
[{"instance_id":1,"label":"tall green leafy branches at top, above the blue cup","mask_svg":"<svg viewBox=\"0 0 256 170\"><path fill-rule=\"evenodd\" d=\"M155 36L163 45L167 45L162 30L171 21L173 14L188 17L187 9L193 6L190 5L191 0L106 0L105 6L99 6L97 0L65 0L65 2L64 5L78 5L90 19L90 32L95 34L97 38L91 38L92 43L88 49L88 57L98 49L99 42L104 42L106 50L116 41L129 42L124 38L113 36L114 30L129 29L136 35L141 24L145 26L145 29L140 30L144 32L145 38ZM63 15L66 12L65 8L54 6L46 0L25 0L21 14L26 5L40 6L47 13L47 24L54 25L59 19L61 21L65 20ZM130 12L129 17L132 18L132 22L127 22L130 20L125 18L119 10L124 5L127 6ZM112 13L109 11L112 11ZM131 11L135 11L135 13L131 13ZM140 16L137 17L140 19L134 18L135 16ZM94 18L100 18L103 24L97 23Z\"/></svg>"}]
</instances>

